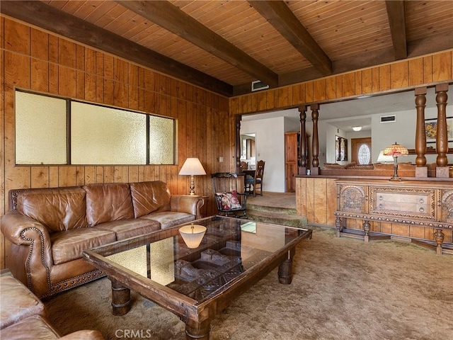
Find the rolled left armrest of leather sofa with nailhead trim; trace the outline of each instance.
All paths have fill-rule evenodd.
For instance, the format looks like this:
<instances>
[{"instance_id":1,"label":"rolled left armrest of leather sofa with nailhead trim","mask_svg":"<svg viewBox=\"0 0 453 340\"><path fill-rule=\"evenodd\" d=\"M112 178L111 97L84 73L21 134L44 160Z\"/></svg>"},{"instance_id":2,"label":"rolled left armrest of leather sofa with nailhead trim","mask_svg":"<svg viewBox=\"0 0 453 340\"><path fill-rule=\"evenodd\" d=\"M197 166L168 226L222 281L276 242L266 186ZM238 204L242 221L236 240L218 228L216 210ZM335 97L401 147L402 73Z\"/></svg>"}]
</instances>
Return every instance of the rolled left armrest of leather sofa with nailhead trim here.
<instances>
[{"instance_id":1,"label":"rolled left armrest of leather sofa with nailhead trim","mask_svg":"<svg viewBox=\"0 0 453 340\"><path fill-rule=\"evenodd\" d=\"M48 295L53 257L47 227L15 210L1 217L1 232L12 243L6 266L13 276L38 297Z\"/></svg>"}]
</instances>

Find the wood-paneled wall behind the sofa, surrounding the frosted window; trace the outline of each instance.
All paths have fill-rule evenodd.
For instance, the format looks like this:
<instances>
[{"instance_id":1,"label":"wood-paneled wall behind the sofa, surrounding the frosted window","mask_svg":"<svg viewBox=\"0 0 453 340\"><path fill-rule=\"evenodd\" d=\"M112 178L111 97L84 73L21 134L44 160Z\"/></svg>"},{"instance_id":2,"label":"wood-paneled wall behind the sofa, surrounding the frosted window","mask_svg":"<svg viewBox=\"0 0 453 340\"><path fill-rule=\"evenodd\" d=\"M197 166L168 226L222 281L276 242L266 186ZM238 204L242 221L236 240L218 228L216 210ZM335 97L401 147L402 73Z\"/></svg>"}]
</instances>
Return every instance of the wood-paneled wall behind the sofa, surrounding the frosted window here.
<instances>
[{"instance_id":1,"label":"wood-paneled wall behind the sofa, surrounding the frosted window","mask_svg":"<svg viewBox=\"0 0 453 340\"><path fill-rule=\"evenodd\" d=\"M197 176L196 193L212 196L210 174L234 169L234 122L228 98L3 16L0 24L0 215L8 210L12 188L159 179L168 183L172 193L188 193L188 176L178 176L178 171L187 157L198 157L207 176ZM178 165L16 166L16 87L177 118ZM219 163L219 157L224 162ZM217 212L213 202L208 208ZM6 246L1 235L1 268Z\"/></svg>"}]
</instances>

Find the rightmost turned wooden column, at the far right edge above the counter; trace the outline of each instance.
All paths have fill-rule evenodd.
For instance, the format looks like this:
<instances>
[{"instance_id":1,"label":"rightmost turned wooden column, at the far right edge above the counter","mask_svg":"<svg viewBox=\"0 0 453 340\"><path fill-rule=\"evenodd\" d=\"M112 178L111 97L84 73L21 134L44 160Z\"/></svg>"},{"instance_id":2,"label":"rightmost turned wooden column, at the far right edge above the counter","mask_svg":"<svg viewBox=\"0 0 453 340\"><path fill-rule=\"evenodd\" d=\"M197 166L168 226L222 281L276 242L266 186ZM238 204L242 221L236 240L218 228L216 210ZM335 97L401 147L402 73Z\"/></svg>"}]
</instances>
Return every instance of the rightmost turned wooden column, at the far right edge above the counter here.
<instances>
[{"instance_id":1,"label":"rightmost turned wooden column, at the far right edge above the counter","mask_svg":"<svg viewBox=\"0 0 453 340\"><path fill-rule=\"evenodd\" d=\"M447 139L447 91L448 84L436 85L437 136L436 136L436 177L448 177L448 139Z\"/></svg>"}]
</instances>

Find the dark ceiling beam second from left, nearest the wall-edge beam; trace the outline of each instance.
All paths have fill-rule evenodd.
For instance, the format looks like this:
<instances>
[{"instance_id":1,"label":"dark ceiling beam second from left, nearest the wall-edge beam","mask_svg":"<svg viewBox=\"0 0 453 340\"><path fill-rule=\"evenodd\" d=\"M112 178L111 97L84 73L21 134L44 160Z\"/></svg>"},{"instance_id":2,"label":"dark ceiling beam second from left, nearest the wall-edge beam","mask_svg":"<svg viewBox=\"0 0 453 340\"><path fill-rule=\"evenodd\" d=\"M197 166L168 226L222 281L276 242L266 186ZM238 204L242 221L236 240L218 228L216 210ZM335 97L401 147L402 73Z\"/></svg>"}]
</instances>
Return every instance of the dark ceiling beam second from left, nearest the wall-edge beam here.
<instances>
[{"instance_id":1,"label":"dark ceiling beam second from left, nearest the wall-edge beam","mask_svg":"<svg viewBox=\"0 0 453 340\"><path fill-rule=\"evenodd\" d=\"M168 1L116 1L162 28L192 42L212 55L256 77L269 86L278 86L278 74L196 21Z\"/></svg>"}]
</instances>

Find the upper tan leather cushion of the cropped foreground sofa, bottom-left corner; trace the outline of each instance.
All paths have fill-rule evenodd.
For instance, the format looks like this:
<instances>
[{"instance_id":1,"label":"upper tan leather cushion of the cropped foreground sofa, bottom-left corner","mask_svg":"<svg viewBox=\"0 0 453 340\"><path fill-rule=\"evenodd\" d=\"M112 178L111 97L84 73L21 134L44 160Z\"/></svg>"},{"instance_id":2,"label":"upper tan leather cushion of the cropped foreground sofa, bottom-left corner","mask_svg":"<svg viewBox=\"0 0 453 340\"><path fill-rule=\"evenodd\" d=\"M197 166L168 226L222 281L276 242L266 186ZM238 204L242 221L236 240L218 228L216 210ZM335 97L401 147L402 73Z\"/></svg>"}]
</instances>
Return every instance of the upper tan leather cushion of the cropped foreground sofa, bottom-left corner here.
<instances>
[{"instance_id":1,"label":"upper tan leather cushion of the cropped foreground sofa, bottom-left corner","mask_svg":"<svg viewBox=\"0 0 453 340\"><path fill-rule=\"evenodd\" d=\"M42 302L13 276L0 276L0 290L0 329L31 315L45 316ZM4 336L3 331L1 335Z\"/></svg>"}]
</instances>

